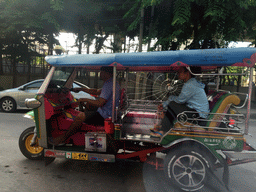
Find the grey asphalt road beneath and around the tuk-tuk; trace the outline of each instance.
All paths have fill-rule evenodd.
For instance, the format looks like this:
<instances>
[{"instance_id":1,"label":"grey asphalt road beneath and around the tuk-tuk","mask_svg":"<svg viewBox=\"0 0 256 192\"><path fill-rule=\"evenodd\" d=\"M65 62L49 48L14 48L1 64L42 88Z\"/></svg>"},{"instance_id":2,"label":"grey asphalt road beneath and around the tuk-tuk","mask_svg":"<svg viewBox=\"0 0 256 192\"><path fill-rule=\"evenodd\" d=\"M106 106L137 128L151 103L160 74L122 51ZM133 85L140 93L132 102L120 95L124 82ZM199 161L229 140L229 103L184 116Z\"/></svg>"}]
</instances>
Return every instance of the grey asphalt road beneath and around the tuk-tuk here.
<instances>
[{"instance_id":1,"label":"grey asphalt road beneath and around the tuk-tuk","mask_svg":"<svg viewBox=\"0 0 256 192\"><path fill-rule=\"evenodd\" d=\"M0 112L0 191L90 191L90 192L167 192L179 191L166 186L162 171L147 164L117 161L98 163L56 159L45 167L43 161L26 159L18 147L23 130L34 123L23 118L26 111L13 114ZM250 122L248 141L256 146L256 121ZM255 130L254 130L255 129ZM255 134L254 134L255 133ZM252 192L256 189L256 163L233 166L230 171L230 191ZM221 179L222 170L215 172ZM209 186L201 191L225 191L211 177Z\"/></svg>"}]
</instances>

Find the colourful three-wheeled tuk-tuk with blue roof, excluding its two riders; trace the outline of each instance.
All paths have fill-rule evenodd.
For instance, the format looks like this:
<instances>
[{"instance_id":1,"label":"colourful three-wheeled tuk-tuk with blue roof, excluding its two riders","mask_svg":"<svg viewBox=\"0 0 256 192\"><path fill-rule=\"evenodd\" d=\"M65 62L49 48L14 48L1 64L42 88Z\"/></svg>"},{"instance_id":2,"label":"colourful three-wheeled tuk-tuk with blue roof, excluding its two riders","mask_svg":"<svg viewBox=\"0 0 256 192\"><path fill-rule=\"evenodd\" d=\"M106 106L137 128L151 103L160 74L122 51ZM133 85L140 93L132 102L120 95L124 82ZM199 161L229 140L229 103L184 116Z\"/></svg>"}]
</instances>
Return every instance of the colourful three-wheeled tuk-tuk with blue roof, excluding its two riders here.
<instances>
[{"instance_id":1,"label":"colourful three-wheeled tuk-tuk with blue roof, excluding its two riders","mask_svg":"<svg viewBox=\"0 0 256 192\"><path fill-rule=\"evenodd\" d=\"M256 161L255 149L244 138L249 131L255 48L61 55L47 56L46 61L51 66L47 77L36 97L26 100L33 111L25 117L33 119L35 127L21 134L19 147L28 159L146 162L163 169L167 182L186 191L203 188L217 168L224 168L227 185L228 166ZM63 146L50 144L48 138L65 133L74 121L72 111L79 110L70 93L76 75L97 72L101 66L113 67L113 103L115 86L121 86L112 116L104 126L84 122ZM200 124L202 119L184 111L163 137L151 137L150 129L162 121L157 106L182 89L177 69L192 66L202 68L194 75L209 87L205 122ZM221 82L231 76L247 77L248 94L222 89ZM240 112L244 106L246 114Z\"/></svg>"}]
</instances>

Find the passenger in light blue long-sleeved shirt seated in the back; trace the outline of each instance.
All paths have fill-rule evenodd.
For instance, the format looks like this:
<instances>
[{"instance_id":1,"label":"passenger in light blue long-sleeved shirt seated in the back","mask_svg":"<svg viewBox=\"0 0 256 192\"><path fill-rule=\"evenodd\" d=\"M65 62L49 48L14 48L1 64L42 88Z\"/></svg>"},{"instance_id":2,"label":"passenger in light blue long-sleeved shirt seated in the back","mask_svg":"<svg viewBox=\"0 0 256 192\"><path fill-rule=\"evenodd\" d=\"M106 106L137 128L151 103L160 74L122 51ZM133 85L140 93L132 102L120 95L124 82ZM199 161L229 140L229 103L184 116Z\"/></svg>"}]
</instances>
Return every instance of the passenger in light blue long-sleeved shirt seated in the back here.
<instances>
[{"instance_id":1,"label":"passenger in light blue long-sleeved shirt seated in the back","mask_svg":"<svg viewBox=\"0 0 256 192\"><path fill-rule=\"evenodd\" d=\"M190 67L190 70L194 74L201 73L200 67ZM162 137L173 126L173 121L177 118L177 115L183 111L192 111L192 113L187 113L189 118L199 117L202 119L207 118L210 112L205 84L196 80L195 76L186 67L180 67L178 73L179 79L184 82L181 93L179 96L171 95L167 101L158 106L158 112L166 109L167 111L164 117L162 115L161 125L151 129L151 137Z\"/></svg>"}]
</instances>

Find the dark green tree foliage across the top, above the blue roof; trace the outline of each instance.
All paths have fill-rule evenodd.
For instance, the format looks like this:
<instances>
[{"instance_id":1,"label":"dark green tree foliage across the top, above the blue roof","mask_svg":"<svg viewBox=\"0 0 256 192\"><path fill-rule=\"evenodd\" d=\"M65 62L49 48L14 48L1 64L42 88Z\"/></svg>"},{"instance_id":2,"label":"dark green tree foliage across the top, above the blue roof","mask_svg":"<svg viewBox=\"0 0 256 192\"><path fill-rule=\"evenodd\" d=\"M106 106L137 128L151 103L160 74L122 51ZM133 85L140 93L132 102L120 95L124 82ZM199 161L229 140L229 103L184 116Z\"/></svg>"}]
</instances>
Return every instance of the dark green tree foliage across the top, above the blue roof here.
<instances>
[{"instance_id":1,"label":"dark green tree foliage across the top, above the blue roof","mask_svg":"<svg viewBox=\"0 0 256 192\"><path fill-rule=\"evenodd\" d=\"M77 34L80 50L96 40L99 53L106 38L114 35L118 38L108 48L121 51L121 39L139 34L141 10L144 42L157 39L151 50L159 45L176 50L181 44L187 49L225 47L247 38L255 44L255 6L255 0L2 0L0 48L28 62L35 42L52 49L58 44L53 34L64 30Z\"/></svg>"}]
</instances>

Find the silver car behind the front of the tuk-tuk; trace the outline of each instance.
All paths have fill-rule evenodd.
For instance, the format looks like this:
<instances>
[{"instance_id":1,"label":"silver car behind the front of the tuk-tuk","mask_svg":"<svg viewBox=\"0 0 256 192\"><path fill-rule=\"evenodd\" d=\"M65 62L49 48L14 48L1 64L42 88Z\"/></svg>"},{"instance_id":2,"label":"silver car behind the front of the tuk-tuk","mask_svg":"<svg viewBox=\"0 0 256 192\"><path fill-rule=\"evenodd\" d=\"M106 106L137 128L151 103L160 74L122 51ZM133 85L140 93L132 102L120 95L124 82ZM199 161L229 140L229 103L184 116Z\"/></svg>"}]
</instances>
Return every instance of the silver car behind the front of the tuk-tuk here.
<instances>
[{"instance_id":1,"label":"silver car behind the front of the tuk-tuk","mask_svg":"<svg viewBox=\"0 0 256 192\"><path fill-rule=\"evenodd\" d=\"M21 85L17 88L7 89L4 91L0 91L0 109L2 112L14 112L16 109L26 108L25 99L26 98L34 98L38 89L41 87L44 79L38 79L35 81L31 81L24 85ZM73 88L79 87L87 87L86 85L75 81L73 83ZM94 99L88 93L85 92L71 92L72 95L76 98L89 98ZM27 109L27 108L26 108Z\"/></svg>"}]
</instances>

